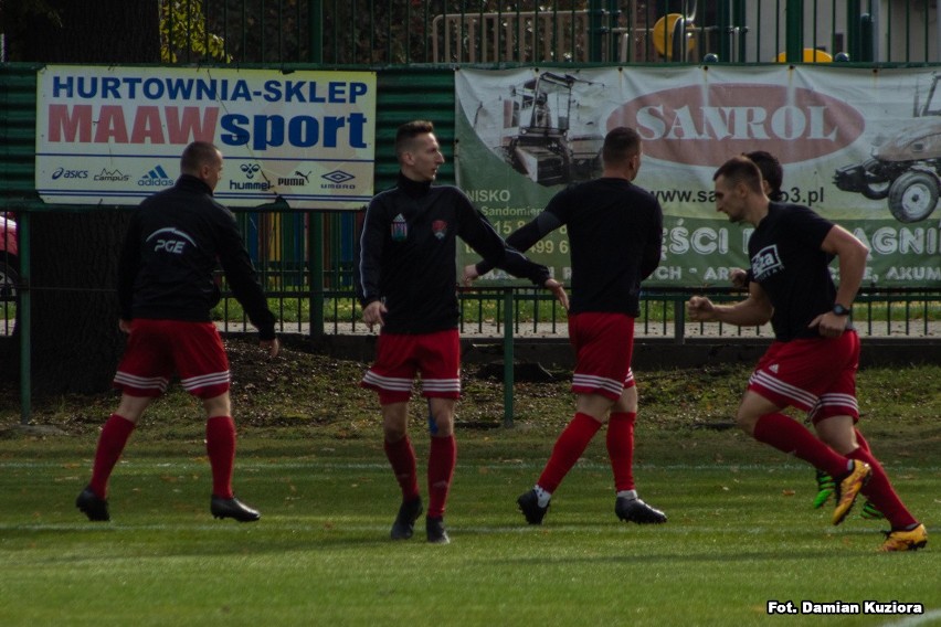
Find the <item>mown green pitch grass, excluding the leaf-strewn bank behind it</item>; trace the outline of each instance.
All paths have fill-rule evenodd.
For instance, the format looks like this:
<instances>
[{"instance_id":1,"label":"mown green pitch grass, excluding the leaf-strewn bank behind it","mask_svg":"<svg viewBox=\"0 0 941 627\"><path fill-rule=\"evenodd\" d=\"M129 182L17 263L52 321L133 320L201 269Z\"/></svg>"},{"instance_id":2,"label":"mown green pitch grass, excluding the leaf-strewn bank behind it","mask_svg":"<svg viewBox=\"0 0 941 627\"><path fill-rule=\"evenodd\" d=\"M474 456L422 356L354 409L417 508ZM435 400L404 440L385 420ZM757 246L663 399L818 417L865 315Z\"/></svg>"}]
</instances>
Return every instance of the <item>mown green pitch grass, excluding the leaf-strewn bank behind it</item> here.
<instances>
[{"instance_id":1,"label":"mown green pitch grass, excluding the leaf-strewn bank behind it","mask_svg":"<svg viewBox=\"0 0 941 627\"><path fill-rule=\"evenodd\" d=\"M663 463L652 458L659 447L638 446L642 496L667 512L665 525L616 520L610 470L595 443L543 525L528 527L514 500L538 475L548 436L462 434L447 546L429 545L422 533L388 540L398 499L378 438L243 442L236 486L263 511L253 524L209 516L209 470L198 440L172 450L131 446L113 479L110 523L89 523L73 504L93 440L82 442L78 455L80 443L34 444L30 454L7 446L0 625L886 625L907 618L772 618L765 615L772 599L919 603L941 623L941 561L931 546L876 553L880 523L854 512L831 527L828 511L811 508L808 469L729 442L726 433L704 434L689 463L681 455ZM740 461L716 461L719 449ZM909 507L937 517L937 458L891 470Z\"/></svg>"}]
</instances>

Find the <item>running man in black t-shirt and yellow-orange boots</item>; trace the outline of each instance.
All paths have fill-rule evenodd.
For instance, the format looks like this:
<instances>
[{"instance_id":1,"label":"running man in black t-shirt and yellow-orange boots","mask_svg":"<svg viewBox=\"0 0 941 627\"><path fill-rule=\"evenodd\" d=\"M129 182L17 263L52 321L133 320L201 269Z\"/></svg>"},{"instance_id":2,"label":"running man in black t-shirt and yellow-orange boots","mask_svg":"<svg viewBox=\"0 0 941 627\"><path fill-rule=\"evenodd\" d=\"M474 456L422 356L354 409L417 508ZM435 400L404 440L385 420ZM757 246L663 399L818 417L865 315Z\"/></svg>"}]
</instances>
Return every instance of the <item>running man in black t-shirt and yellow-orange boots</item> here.
<instances>
[{"instance_id":1,"label":"running man in black t-shirt and yellow-orange boots","mask_svg":"<svg viewBox=\"0 0 941 627\"><path fill-rule=\"evenodd\" d=\"M924 525L902 504L868 446L860 446L855 427L859 338L848 322L868 249L806 206L771 202L758 167L744 157L722 164L713 181L717 210L754 226L749 296L725 306L694 297L689 315L738 326L771 320L775 337L749 380L739 426L836 478L833 524L843 522L861 491L891 523L881 551L924 546ZM833 257L839 259L838 288L829 274ZM787 406L806 411L818 437L782 414Z\"/></svg>"}]
</instances>

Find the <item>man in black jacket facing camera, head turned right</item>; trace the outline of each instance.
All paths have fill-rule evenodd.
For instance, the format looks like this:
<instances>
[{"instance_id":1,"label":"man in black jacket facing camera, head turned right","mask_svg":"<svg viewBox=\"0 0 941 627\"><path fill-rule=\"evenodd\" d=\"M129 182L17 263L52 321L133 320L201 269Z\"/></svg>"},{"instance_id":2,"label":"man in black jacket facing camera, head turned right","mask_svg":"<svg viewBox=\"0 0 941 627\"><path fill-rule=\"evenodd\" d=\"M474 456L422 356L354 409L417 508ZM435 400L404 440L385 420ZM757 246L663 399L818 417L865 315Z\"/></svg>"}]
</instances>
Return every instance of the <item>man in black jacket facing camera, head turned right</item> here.
<instances>
[{"instance_id":1,"label":"man in black jacket facing camera, head turned right","mask_svg":"<svg viewBox=\"0 0 941 627\"><path fill-rule=\"evenodd\" d=\"M461 395L457 237L510 274L552 289L567 305L561 284L544 266L508 248L461 190L432 187L444 157L429 121L399 128L398 185L369 205L360 252L362 318L380 325L376 363L362 385L379 393L385 455L402 489L392 525L393 540L412 536L422 512L415 453L408 436L408 407L416 373L429 398L431 453L427 483L427 540L447 543L443 517L454 474L454 404Z\"/></svg>"}]
</instances>

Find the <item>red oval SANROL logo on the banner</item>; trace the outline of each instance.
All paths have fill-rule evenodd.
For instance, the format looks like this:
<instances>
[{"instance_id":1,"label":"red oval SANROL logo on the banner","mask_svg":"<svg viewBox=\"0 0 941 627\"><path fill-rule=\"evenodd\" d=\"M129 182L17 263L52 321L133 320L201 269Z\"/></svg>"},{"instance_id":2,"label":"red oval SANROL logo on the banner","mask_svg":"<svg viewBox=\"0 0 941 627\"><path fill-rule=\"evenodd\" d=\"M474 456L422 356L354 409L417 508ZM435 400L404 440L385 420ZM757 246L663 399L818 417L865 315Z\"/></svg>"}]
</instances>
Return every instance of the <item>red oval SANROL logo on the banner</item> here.
<instances>
[{"instance_id":1,"label":"red oval SANROL logo on the banner","mask_svg":"<svg viewBox=\"0 0 941 627\"><path fill-rule=\"evenodd\" d=\"M820 92L723 83L645 94L614 109L607 128L616 126L636 128L645 155L718 167L759 144L782 163L823 157L853 144L866 124L858 110Z\"/></svg>"}]
</instances>

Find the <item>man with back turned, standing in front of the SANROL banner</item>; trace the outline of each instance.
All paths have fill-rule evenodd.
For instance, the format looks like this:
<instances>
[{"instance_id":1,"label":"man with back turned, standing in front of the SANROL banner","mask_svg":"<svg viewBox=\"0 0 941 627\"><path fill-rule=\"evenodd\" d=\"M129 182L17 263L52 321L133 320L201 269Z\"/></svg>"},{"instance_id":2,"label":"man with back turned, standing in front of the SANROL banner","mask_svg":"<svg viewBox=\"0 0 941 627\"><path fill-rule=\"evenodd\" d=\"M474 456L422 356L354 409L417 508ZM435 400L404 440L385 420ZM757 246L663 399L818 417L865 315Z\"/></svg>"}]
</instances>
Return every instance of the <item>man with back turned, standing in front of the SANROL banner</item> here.
<instances>
[{"instance_id":1,"label":"man with back turned, standing in front of the SANROL banner","mask_svg":"<svg viewBox=\"0 0 941 627\"><path fill-rule=\"evenodd\" d=\"M507 238L525 252L565 225L572 257L569 339L577 355L575 415L556 442L539 481L517 499L530 524L542 523L552 492L605 421L615 514L636 523L666 522L662 511L637 498L634 485L637 389L631 370L641 281L660 262L663 211L649 192L632 182L641 168L636 131L612 129L604 138L602 158L601 178L560 191L536 220ZM467 266L465 281L493 266L486 261Z\"/></svg>"}]
</instances>

